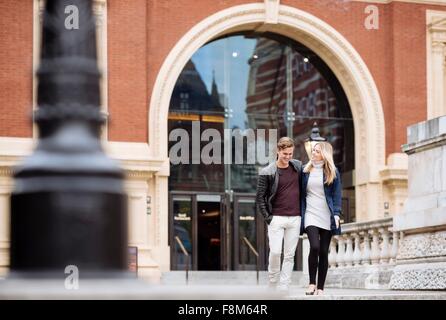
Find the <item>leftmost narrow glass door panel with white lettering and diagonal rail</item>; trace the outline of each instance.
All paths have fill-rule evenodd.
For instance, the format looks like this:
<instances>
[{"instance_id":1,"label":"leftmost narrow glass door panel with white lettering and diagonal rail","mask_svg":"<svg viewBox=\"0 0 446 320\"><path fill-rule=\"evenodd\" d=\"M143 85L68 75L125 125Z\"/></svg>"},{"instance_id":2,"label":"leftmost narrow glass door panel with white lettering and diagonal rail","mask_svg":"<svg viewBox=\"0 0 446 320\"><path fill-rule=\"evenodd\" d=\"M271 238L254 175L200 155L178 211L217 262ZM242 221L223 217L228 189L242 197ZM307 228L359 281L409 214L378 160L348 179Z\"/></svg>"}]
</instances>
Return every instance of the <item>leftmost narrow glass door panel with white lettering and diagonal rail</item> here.
<instances>
[{"instance_id":1,"label":"leftmost narrow glass door panel with white lettering and diagonal rail","mask_svg":"<svg viewBox=\"0 0 446 320\"><path fill-rule=\"evenodd\" d=\"M189 254L187 257L174 239L176 268L185 270L186 263L192 268L192 201L190 198L173 198L174 237L178 236Z\"/></svg>"}]
</instances>

